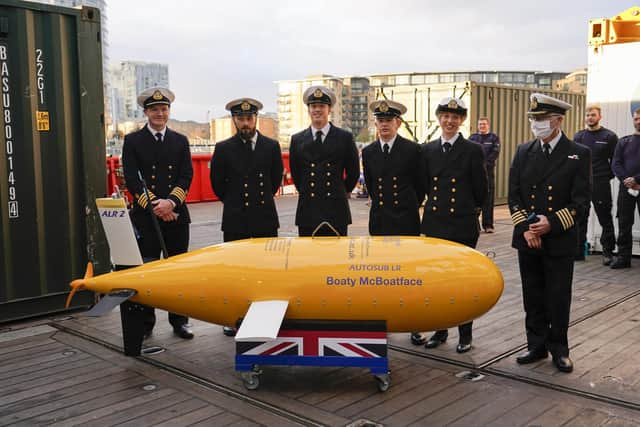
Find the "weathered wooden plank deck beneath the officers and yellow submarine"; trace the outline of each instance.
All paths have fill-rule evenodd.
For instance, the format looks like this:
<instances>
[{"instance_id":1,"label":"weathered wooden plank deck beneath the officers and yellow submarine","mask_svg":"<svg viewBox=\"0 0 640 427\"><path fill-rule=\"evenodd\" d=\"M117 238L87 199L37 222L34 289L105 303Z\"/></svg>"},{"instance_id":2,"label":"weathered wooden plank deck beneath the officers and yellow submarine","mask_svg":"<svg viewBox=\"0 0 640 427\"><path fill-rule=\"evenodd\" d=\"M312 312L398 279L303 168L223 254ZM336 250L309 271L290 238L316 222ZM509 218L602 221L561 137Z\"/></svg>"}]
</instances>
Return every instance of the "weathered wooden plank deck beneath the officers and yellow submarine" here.
<instances>
[{"instance_id":1,"label":"weathered wooden plank deck beneath the officers and yellow submarine","mask_svg":"<svg viewBox=\"0 0 640 427\"><path fill-rule=\"evenodd\" d=\"M280 235L295 235L295 198L278 204ZM192 247L219 243L220 204L191 210ZM367 210L365 200L352 200L350 234L366 234ZM159 311L145 344L166 351L128 358L117 312L74 314L0 325L0 425L640 426L640 262L622 271L597 255L576 264L573 373L558 373L550 359L517 365L525 346L520 280L508 213L497 214L497 232L483 234L479 250L495 253L505 292L475 322L473 350L455 352L454 329L436 350L393 334L385 393L367 370L311 367L263 367L260 388L247 391L220 326L193 321L196 337L183 341Z\"/></svg>"}]
</instances>

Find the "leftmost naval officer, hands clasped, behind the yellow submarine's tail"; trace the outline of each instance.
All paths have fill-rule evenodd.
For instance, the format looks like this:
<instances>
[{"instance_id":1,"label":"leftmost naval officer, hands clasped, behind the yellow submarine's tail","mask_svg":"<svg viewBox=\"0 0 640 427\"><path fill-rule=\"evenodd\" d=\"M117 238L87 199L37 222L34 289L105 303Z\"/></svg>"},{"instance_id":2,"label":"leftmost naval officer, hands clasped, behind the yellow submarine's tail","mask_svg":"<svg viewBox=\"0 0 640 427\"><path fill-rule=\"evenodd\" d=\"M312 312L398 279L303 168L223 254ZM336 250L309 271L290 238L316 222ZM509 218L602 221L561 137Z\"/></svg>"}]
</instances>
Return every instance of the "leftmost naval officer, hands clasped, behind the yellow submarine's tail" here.
<instances>
[{"instance_id":1,"label":"leftmost naval officer, hands clasped, behind the yellow submarine's tail","mask_svg":"<svg viewBox=\"0 0 640 427\"><path fill-rule=\"evenodd\" d=\"M124 137L122 168L127 189L133 195L131 220L137 230L138 246L145 262L161 255L161 245L153 226L149 204L153 206L160 224L168 255L174 256L189 249L191 218L185 204L193 177L191 152L187 137L167 127L170 106L175 95L166 88L151 88L138 96L147 124ZM138 177L141 173L149 190L149 198ZM152 307L144 307L144 335L148 337L155 325ZM191 339L188 318L169 313L169 323L180 338Z\"/></svg>"}]
</instances>

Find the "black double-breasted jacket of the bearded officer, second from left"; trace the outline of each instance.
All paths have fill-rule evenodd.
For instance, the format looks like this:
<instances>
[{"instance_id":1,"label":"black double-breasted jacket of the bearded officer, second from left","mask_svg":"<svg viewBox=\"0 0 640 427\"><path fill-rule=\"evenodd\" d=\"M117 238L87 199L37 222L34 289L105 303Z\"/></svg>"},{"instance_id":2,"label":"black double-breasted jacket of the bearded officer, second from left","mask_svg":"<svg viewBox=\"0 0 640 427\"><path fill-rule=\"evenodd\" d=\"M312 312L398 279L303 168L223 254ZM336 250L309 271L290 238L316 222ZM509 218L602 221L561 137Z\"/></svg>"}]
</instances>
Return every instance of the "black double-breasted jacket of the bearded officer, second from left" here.
<instances>
[{"instance_id":1,"label":"black double-breasted jacket of the bearded officer, second from left","mask_svg":"<svg viewBox=\"0 0 640 427\"><path fill-rule=\"evenodd\" d=\"M282 181L280 144L258 132L253 153L235 136L216 144L211 186L224 203L222 231L249 235L280 226L273 196Z\"/></svg>"}]
</instances>

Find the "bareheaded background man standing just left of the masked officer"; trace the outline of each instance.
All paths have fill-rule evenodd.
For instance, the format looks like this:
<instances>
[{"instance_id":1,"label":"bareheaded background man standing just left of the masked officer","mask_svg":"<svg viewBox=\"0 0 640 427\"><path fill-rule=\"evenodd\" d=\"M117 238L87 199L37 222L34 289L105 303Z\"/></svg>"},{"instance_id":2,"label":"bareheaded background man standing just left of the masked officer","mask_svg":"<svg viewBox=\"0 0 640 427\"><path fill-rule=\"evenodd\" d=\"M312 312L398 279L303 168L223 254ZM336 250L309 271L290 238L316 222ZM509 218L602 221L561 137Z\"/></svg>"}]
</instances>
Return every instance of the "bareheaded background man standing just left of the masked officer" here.
<instances>
[{"instance_id":1,"label":"bareheaded background man standing just left of the masked officer","mask_svg":"<svg viewBox=\"0 0 640 427\"><path fill-rule=\"evenodd\" d=\"M489 195L482 205L482 229L485 233L493 233L493 205L496 196L496 160L500 155L500 138L493 132L489 132L489 118L478 119L478 132L471 134L469 141L475 142L484 151L485 167L487 168L487 180L489 182Z\"/></svg>"}]
</instances>

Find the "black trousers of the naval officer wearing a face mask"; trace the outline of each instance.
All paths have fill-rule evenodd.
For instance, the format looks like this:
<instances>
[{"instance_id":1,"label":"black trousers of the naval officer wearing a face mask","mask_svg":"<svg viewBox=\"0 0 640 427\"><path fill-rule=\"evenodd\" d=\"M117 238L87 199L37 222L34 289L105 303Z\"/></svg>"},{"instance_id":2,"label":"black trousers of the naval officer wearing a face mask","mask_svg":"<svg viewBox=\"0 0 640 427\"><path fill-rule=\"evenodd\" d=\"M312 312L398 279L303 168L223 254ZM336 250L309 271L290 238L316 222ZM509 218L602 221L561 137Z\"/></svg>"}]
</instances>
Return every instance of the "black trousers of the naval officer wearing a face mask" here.
<instances>
[{"instance_id":1,"label":"black trousers of the naval officer wearing a face mask","mask_svg":"<svg viewBox=\"0 0 640 427\"><path fill-rule=\"evenodd\" d=\"M568 356L573 257L518 251L518 264L528 349Z\"/></svg>"}]
</instances>

